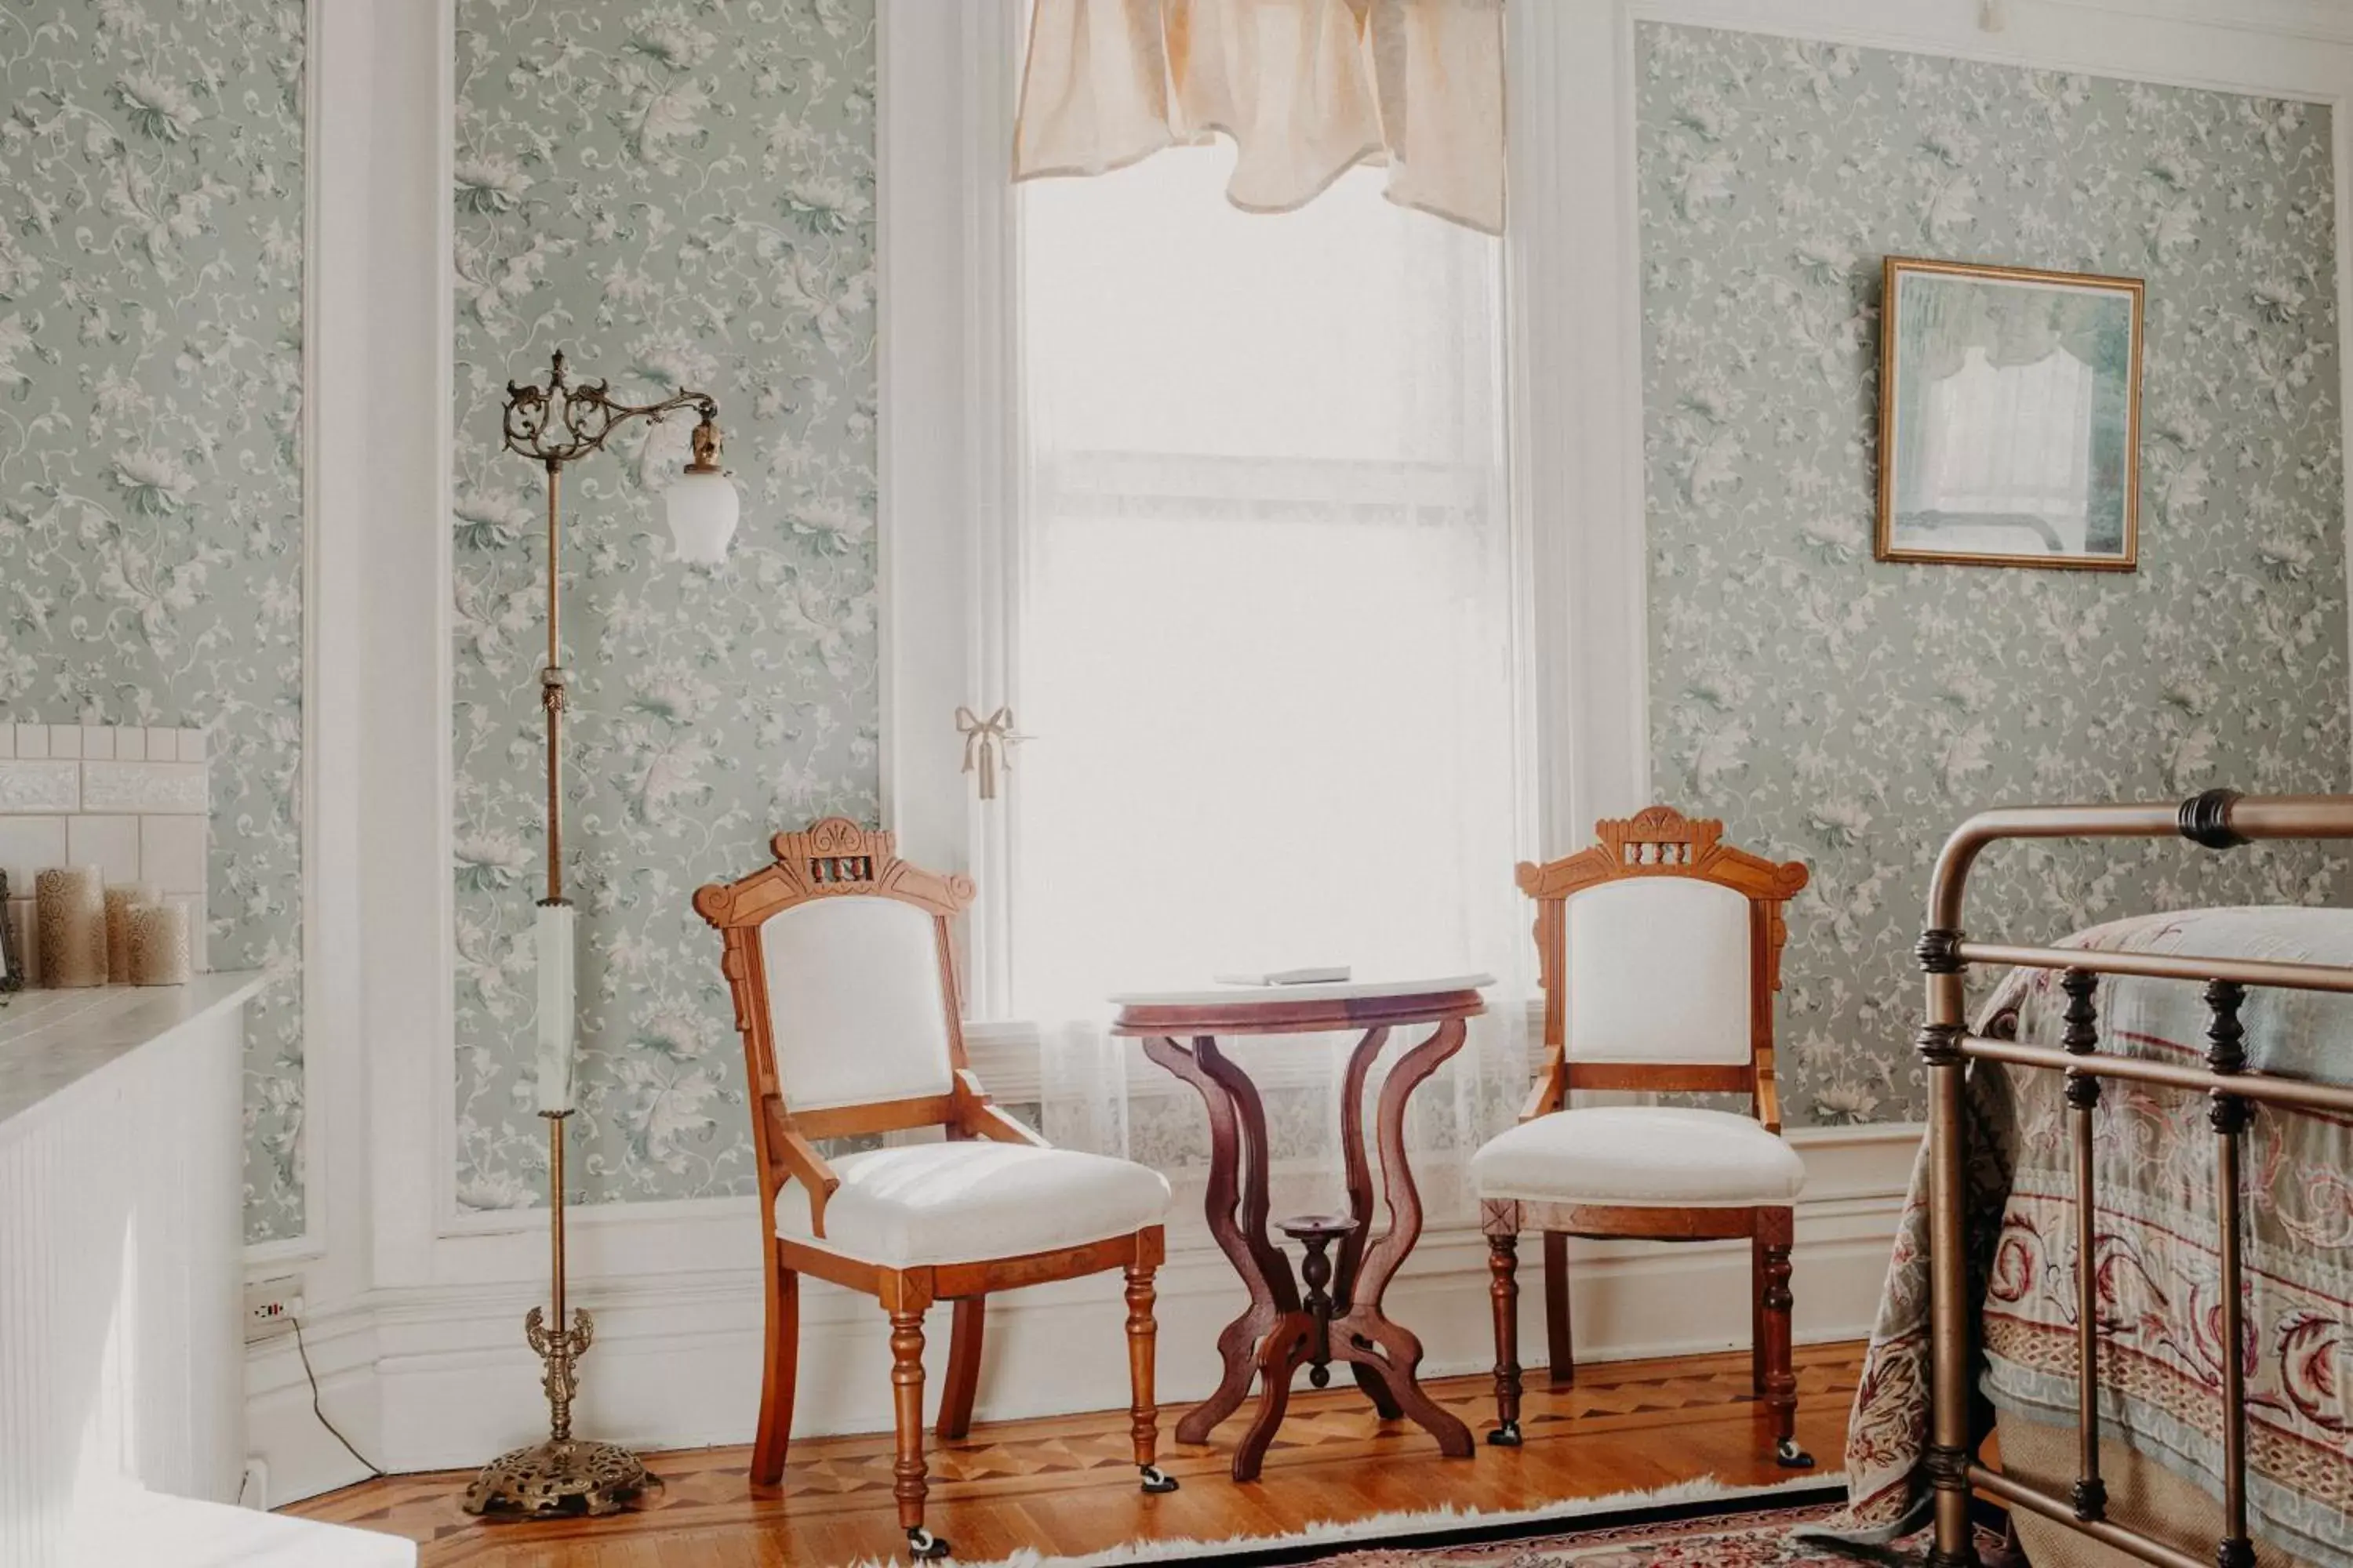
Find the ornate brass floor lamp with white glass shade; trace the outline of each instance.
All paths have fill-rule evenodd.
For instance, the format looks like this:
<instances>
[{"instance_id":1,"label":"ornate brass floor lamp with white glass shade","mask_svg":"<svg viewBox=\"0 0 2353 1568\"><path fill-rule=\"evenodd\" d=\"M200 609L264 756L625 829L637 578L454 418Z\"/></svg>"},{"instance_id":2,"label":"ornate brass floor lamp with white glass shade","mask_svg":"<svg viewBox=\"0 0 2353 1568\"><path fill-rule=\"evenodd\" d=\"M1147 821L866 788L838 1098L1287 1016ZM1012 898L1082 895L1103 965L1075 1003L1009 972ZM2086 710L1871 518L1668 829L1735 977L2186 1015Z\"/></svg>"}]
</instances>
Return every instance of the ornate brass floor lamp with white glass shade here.
<instances>
[{"instance_id":1,"label":"ornate brass floor lamp with white glass shade","mask_svg":"<svg viewBox=\"0 0 2353 1568\"><path fill-rule=\"evenodd\" d=\"M539 670L539 708L548 738L548 896L539 900L534 938L539 947L539 1114L548 1121L548 1272L555 1312L532 1307L522 1333L546 1363L548 1441L501 1453L466 1488L468 1514L614 1514L647 1488L652 1476L628 1448L572 1436L572 1401L579 1394L579 1359L588 1352L593 1319L565 1314L565 1121L572 1117L574 1030L574 926L565 898L562 719L572 675L562 665L562 590L558 552L562 543L565 463L600 451L621 425L694 409L694 456L687 473L664 491L678 559L715 567L727 559L739 496L720 473L720 404L708 393L678 393L661 402L628 404L612 397L605 381L579 386L565 378L555 355L546 386L506 383L506 449L548 470L548 663Z\"/></svg>"}]
</instances>

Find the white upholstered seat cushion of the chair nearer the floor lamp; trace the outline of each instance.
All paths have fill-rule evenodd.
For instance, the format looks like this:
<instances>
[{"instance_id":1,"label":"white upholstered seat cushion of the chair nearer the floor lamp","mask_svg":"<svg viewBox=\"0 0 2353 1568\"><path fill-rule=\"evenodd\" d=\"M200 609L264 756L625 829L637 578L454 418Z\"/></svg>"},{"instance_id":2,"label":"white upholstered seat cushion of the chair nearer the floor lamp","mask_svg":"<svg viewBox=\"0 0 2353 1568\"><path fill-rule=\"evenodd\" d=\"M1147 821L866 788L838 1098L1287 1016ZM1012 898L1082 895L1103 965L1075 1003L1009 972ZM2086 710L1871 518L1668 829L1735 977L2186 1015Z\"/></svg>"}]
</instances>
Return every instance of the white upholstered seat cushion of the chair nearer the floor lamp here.
<instances>
[{"instance_id":1,"label":"white upholstered seat cushion of the chair nearer the floor lamp","mask_svg":"<svg viewBox=\"0 0 2353 1568\"><path fill-rule=\"evenodd\" d=\"M892 1267L1085 1246L1160 1225L1169 1208L1158 1171L1026 1143L918 1143L831 1164L842 1185L826 1204L824 1239L798 1185L776 1192L776 1234Z\"/></svg>"}]
</instances>

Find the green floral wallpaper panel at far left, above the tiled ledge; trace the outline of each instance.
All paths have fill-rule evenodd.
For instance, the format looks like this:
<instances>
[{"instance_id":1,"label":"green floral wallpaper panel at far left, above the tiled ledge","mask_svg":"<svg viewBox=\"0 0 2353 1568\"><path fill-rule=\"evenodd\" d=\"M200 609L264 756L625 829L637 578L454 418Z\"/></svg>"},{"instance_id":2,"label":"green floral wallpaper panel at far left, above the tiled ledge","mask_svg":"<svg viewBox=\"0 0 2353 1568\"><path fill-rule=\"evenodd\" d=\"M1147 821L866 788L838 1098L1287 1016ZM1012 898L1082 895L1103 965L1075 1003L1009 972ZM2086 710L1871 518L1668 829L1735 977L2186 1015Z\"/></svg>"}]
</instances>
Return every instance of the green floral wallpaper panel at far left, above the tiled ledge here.
<instances>
[{"instance_id":1,"label":"green floral wallpaper panel at far left, above the tiled ledge","mask_svg":"<svg viewBox=\"0 0 2353 1568\"><path fill-rule=\"evenodd\" d=\"M0 0L0 717L207 731L254 1241L304 1229L301 71L304 0Z\"/></svg>"}]
</instances>

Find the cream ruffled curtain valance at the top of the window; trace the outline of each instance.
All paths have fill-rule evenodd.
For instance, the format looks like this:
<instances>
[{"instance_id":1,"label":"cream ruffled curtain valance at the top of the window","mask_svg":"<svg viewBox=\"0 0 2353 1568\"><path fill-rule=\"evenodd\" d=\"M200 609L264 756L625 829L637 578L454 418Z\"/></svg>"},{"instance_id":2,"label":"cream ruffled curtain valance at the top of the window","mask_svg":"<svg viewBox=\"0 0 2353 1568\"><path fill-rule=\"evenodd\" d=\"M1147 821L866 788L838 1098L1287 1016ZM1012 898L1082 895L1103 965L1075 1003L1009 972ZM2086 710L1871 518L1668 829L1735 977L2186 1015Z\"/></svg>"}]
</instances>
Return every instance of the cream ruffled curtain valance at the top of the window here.
<instances>
[{"instance_id":1,"label":"cream ruffled curtain valance at the top of the window","mask_svg":"<svg viewBox=\"0 0 2353 1568\"><path fill-rule=\"evenodd\" d=\"M1233 136L1228 200L1289 212L1353 165L1504 230L1504 0L1038 0L1014 179Z\"/></svg>"}]
</instances>

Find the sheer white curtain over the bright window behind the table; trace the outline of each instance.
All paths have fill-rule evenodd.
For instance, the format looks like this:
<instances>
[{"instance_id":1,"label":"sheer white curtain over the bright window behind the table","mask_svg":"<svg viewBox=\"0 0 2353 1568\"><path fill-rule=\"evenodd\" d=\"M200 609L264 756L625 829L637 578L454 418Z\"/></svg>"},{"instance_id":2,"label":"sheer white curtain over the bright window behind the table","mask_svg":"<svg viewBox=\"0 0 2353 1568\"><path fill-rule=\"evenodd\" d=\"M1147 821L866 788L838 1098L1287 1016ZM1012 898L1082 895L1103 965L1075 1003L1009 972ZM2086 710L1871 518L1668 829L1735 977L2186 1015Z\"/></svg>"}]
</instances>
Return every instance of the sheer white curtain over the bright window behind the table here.
<instances>
[{"instance_id":1,"label":"sheer white curtain over the bright window behind the table","mask_svg":"<svg viewBox=\"0 0 2353 1568\"><path fill-rule=\"evenodd\" d=\"M1461 1213L1459 1154L1527 1081L1532 969L1499 244L1377 172L1242 214L1231 162L1021 190L1012 1001L1049 1025L1047 1133L1181 1173L1198 1103L1101 1034L1111 992L1489 971L1417 1100L1417 1173ZM1337 1201L1351 1044L1242 1046L1280 1211Z\"/></svg>"}]
</instances>

